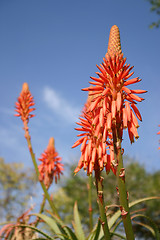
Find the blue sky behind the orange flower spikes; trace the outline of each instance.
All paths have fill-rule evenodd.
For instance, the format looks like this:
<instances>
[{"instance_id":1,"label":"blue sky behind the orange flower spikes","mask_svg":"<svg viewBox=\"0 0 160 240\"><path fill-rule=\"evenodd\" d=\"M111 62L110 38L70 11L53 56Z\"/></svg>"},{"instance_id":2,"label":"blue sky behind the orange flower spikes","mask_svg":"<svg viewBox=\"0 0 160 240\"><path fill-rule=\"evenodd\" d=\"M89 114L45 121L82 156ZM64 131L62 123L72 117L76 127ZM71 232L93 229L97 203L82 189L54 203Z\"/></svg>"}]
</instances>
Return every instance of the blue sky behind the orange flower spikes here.
<instances>
[{"instance_id":1,"label":"blue sky behind the orange flower spikes","mask_svg":"<svg viewBox=\"0 0 160 240\"><path fill-rule=\"evenodd\" d=\"M160 170L160 29L148 27L156 20L145 0L1 0L0 156L32 166L22 122L14 117L14 104L28 82L36 103L36 117L29 123L36 157L53 136L64 162L78 160L80 149L71 146L87 98L81 89L95 76L116 24L127 63L142 78L135 88L148 91L138 104L140 138L131 146L125 133L123 147L148 170Z\"/></svg>"}]
</instances>

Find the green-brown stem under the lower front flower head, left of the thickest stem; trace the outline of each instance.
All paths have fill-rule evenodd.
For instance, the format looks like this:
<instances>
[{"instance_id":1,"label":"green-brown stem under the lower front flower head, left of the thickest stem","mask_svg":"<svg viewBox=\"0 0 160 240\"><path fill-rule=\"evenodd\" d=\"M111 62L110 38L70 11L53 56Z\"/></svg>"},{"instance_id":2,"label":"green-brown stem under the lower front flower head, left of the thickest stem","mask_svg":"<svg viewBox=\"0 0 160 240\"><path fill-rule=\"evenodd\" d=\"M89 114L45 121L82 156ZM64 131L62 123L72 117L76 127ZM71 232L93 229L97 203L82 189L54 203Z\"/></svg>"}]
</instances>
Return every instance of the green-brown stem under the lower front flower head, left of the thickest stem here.
<instances>
[{"instance_id":1,"label":"green-brown stem under the lower front flower head, left of the thickest stem","mask_svg":"<svg viewBox=\"0 0 160 240\"><path fill-rule=\"evenodd\" d=\"M104 232L104 239L110 240L110 232L107 223L107 217L105 212L105 205L104 205L104 196L103 196L103 177L100 176L100 171L95 171L95 178L96 178L96 188L97 188L97 202L99 205L100 211L100 221L102 224L103 232Z\"/></svg>"}]
</instances>

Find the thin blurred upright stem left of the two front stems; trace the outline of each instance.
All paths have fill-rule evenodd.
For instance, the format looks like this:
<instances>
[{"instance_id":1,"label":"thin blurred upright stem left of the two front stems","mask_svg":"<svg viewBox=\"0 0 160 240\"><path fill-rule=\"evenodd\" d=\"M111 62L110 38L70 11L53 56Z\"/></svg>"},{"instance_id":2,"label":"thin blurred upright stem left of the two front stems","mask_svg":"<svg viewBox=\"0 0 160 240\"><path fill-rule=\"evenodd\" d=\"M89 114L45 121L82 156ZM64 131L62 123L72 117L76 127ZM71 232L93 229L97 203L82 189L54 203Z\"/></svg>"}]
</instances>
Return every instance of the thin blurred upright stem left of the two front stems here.
<instances>
[{"instance_id":1,"label":"thin blurred upright stem left of the two front stems","mask_svg":"<svg viewBox=\"0 0 160 240\"><path fill-rule=\"evenodd\" d=\"M89 227L90 231L93 229L93 209L92 209L92 174L88 176L88 202L89 202Z\"/></svg>"}]
</instances>

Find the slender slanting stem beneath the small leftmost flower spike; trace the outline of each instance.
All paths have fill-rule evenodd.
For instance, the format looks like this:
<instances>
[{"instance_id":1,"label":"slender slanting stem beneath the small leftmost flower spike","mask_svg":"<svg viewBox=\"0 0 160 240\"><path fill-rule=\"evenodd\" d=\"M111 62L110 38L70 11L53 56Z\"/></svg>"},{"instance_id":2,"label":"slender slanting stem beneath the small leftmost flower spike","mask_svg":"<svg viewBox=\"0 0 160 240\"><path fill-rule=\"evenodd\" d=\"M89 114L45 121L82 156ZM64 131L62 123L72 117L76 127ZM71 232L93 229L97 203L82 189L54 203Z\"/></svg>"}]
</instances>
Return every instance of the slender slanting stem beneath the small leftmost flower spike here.
<instances>
[{"instance_id":1,"label":"slender slanting stem beneath the small leftmost flower spike","mask_svg":"<svg viewBox=\"0 0 160 240\"><path fill-rule=\"evenodd\" d=\"M28 130L27 122L24 122L24 130L25 130L25 138L26 138L26 140L27 140L27 144L28 144L29 152L30 152L30 155L31 155L31 158L32 158L32 162L33 162L33 165L34 165L34 168L35 168L37 177L38 177L38 179L39 179L38 165L37 165L37 162L36 162L35 154L34 154L34 152L33 152L32 144L31 144L31 137L30 137L30 135L29 135L29 130ZM56 214L56 216L57 216L58 218L60 218L60 216L59 216L59 214L58 214L58 211L57 211L57 209L56 209L53 201L52 201L51 198L50 198L50 195L49 195L49 193L48 193L48 191L47 191L47 188L46 188L44 182L43 182L43 181L39 181L39 182L40 182L40 184L41 184L41 187L42 187L42 189L43 189L43 192L44 192L44 194L45 194L45 196L46 196L46 199L48 200L48 203L49 203L49 205L50 205L53 213Z\"/></svg>"}]
</instances>

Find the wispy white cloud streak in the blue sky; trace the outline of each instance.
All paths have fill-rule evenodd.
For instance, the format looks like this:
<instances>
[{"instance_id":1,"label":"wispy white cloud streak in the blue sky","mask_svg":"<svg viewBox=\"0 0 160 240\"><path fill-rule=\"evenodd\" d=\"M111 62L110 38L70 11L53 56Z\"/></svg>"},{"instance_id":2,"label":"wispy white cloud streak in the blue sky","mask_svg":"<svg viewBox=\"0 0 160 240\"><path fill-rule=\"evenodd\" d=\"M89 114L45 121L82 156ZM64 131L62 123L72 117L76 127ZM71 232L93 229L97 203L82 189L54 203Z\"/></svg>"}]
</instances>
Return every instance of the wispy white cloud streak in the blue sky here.
<instances>
[{"instance_id":1,"label":"wispy white cloud streak in the blue sky","mask_svg":"<svg viewBox=\"0 0 160 240\"><path fill-rule=\"evenodd\" d=\"M68 123L77 121L81 111L80 107L73 106L53 88L45 87L43 98L48 107L52 109L55 114L67 120Z\"/></svg>"}]
</instances>

